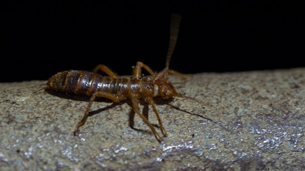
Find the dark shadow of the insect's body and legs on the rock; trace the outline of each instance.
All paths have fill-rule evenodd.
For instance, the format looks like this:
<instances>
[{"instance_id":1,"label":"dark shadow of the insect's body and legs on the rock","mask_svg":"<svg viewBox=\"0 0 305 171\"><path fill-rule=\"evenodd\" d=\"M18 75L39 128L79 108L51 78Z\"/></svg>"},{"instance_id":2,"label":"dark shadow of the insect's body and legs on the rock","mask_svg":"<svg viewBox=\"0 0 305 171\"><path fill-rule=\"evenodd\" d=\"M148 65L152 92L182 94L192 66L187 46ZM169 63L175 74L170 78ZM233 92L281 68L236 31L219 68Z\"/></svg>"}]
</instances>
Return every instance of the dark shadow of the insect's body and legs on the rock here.
<instances>
[{"instance_id":1,"label":"dark shadow of the insect's body and legs on the rock","mask_svg":"<svg viewBox=\"0 0 305 171\"><path fill-rule=\"evenodd\" d=\"M76 100L76 101L87 101L87 102L90 100L90 96L78 96L78 95L73 95L73 94L65 94L65 93L61 93L61 92L57 92L57 91L53 91L53 90L47 90L47 89L46 89L46 93L48 93L50 95L53 95L53 96L57 96L57 97L62 98L62 99L69 99L69 100ZM170 98L170 99L163 99L161 97L154 97L153 98L155 104L158 104L158 105L168 105L169 102L171 102L173 99L174 98ZM117 102L117 103L115 103L115 102L113 102L109 99L106 99L106 98L96 98L94 101L95 102L112 103L112 104L110 104L106 107L103 107L101 109L97 109L97 110L89 112L88 117L91 117L95 114L101 114L102 112L105 112L108 109L111 109L111 108L114 108L118 105L122 105L122 104L126 103L127 105L130 106L130 113L128 114L129 127L134 129L134 130L140 131L140 132L144 132L144 133L147 133L147 134L150 134L150 135L152 134L152 132L149 131L149 130L143 130L143 129L134 127L134 125L135 125L135 120L134 120L135 119L135 111L132 109L132 102L131 102L130 99L122 100L122 101ZM144 100L140 100L139 103L143 106L142 114L146 117L147 120L149 120L149 104L146 103ZM157 124L152 124L152 125L156 128L160 128Z\"/></svg>"}]
</instances>

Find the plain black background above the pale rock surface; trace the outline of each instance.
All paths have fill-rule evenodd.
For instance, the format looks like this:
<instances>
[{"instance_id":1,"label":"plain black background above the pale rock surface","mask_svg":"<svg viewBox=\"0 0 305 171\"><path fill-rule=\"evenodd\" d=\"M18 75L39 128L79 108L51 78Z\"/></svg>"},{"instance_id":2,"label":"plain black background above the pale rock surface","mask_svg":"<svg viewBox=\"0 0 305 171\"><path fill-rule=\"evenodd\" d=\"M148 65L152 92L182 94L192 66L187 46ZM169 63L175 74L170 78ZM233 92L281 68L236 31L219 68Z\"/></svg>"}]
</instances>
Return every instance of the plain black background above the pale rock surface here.
<instances>
[{"instance_id":1,"label":"plain black background above the pale rock surface","mask_svg":"<svg viewBox=\"0 0 305 171\"><path fill-rule=\"evenodd\" d=\"M0 82L47 80L105 64L165 66L171 13L182 15L170 68L183 73L305 67L302 5L281 0L4 2Z\"/></svg>"}]
</instances>

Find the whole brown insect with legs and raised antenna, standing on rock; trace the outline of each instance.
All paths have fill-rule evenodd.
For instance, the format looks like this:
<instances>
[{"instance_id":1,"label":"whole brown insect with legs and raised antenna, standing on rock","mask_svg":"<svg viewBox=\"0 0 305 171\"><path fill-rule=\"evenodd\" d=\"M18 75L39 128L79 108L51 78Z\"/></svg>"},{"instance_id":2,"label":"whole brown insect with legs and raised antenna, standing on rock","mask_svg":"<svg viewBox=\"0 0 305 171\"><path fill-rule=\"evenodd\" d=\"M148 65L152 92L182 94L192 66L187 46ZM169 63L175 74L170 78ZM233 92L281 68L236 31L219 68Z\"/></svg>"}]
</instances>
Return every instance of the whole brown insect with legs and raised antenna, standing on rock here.
<instances>
[{"instance_id":1,"label":"whole brown insect with legs and raised antenna, standing on rock","mask_svg":"<svg viewBox=\"0 0 305 171\"><path fill-rule=\"evenodd\" d=\"M79 127L85 124L86 119L89 115L92 102L96 97L103 97L112 100L113 102L119 102L129 98L132 102L133 110L137 113L143 121L151 128L156 139L161 142L162 137L155 130L153 125L148 119L141 114L139 110L139 100L143 99L152 106L153 112L155 113L159 128L162 134L166 137L167 133L165 128L162 126L162 122L159 113L154 106L153 97L161 96L163 99L169 99L172 97L186 97L183 94L176 91L176 88L168 82L168 73L178 75L183 78L183 75L177 71L169 70L169 61L172 56L173 50L176 45L179 25L181 16L178 14L172 14L171 16L171 28L170 28L170 42L168 48L168 55L166 58L165 68L155 73L150 67L142 62L137 62L133 75L130 79L119 78L113 71L111 71L105 65L98 65L93 72L89 71L62 71L53 75L47 82L47 85L43 89L55 90L69 94L76 94L80 96L91 96L89 100L86 112L83 118L77 124L74 135ZM142 77L141 70L145 69L151 75L149 77ZM108 76L102 76L97 74L98 70L104 71ZM39 90L38 90L39 91Z\"/></svg>"}]
</instances>

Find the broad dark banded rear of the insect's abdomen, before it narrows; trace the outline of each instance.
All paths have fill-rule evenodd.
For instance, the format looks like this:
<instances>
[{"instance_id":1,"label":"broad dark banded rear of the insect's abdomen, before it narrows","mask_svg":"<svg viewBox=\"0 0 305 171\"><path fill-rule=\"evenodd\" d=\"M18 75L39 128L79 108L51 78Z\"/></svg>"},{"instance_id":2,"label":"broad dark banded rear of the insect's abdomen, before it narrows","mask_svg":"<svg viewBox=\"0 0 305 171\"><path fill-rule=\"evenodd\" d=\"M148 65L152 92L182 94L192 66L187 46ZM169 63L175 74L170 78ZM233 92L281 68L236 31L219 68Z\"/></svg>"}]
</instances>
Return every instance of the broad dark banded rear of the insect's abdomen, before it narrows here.
<instances>
[{"instance_id":1,"label":"broad dark banded rear of the insect's abdomen, before it narrows","mask_svg":"<svg viewBox=\"0 0 305 171\"><path fill-rule=\"evenodd\" d=\"M47 82L47 89L90 96L101 88L107 77L89 71L62 71Z\"/></svg>"}]
</instances>

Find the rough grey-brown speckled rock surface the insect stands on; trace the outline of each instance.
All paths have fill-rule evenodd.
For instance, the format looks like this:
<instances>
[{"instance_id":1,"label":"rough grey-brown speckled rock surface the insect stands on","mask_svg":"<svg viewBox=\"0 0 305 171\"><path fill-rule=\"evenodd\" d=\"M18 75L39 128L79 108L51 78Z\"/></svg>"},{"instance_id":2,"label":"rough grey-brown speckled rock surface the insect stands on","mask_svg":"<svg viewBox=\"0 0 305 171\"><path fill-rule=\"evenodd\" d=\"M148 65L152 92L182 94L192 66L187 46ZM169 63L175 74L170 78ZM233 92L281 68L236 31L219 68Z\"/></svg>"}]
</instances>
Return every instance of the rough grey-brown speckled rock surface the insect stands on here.
<instances>
[{"instance_id":1,"label":"rough grey-brown speckled rock surface the insect stands on","mask_svg":"<svg viewBox=\"0 0 305 171\"><path fill-rule=\"evenodd\" d=\"M304 170L305 68L169 80L202 102L156 98L161 143L137 115L140 131L129 127L130 100L98 99L74 136L89 98L33 94L46 81L0 83L0 170Z\"/></svg>"}]
</instances>

